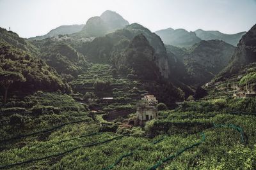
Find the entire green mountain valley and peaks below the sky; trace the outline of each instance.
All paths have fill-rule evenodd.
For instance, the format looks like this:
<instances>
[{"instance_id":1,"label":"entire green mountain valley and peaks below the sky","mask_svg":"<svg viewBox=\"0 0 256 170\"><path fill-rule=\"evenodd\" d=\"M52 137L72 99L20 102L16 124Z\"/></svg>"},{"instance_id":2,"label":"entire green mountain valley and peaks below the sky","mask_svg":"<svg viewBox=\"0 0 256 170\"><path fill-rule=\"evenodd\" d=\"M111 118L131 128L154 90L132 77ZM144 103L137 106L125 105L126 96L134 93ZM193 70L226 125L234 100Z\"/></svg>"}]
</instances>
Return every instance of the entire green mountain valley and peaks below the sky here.
<instances>
[{"instance_id":1,"label":"entire green mountain valley and peaks below the sky","mask_svg":"<svg viewBox=\"0 0 256 170\"><path fill-rule=\"evenodd\" d=\"M0 27L0 169L256 169L256 25L161 29L104 11Z\"/></svg>"}]
</instances>

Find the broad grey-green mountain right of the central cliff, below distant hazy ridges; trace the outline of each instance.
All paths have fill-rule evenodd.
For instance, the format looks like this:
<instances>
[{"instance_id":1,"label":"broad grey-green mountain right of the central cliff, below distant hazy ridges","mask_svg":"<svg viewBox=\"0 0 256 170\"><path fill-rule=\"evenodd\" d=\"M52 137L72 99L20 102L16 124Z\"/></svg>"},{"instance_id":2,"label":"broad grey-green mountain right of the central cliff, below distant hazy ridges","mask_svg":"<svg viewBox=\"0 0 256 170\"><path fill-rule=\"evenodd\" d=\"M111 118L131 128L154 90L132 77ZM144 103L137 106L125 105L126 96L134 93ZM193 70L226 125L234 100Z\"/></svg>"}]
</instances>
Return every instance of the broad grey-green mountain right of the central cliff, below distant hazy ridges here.
<instances>
[{"instance_id":1,"label":"broad grey-green mountain right of the central cliff, below distant hazy ridges","mask_svg":"<svg viewBox=\"0 0 256 170\"><path fill-rule=\"evenodd\" d=\"M235 47L220 40L200 41L188 50L166 46L168 53L174 55L171 72L175 79L198 87L210 81L227 66ZM175 64L173 64L175 63Z\"/></svg>"}]
</instances>

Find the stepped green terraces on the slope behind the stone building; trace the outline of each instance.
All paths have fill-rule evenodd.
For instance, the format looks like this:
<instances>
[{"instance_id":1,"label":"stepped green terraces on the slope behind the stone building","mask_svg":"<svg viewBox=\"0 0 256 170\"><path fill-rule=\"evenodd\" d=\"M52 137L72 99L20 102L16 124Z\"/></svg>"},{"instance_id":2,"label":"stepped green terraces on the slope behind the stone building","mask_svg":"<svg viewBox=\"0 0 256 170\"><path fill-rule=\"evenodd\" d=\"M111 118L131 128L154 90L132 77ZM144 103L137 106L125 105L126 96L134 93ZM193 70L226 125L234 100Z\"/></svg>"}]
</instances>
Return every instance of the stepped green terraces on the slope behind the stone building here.
<instances>
[{"instance_id":1,"label":"stepped green terraces on the slope behind the stone building","mask_svg":"<svg viewBox=\"0 0 256 170\"><path fill-rule=\"evenodd\" d=\"M104 84L102 86L105 87L95 89L97 82ZM108 109L115 109L118 106L131 108L141 95L148 93L139 81L128 79L122 74L113 74L108 64L93 64L86 73L70 82L70 85L75 92L84 96L86 102L90 98ZM113 101L104 103L103 97L113 97Z\"/></svg>"}]
</instances>

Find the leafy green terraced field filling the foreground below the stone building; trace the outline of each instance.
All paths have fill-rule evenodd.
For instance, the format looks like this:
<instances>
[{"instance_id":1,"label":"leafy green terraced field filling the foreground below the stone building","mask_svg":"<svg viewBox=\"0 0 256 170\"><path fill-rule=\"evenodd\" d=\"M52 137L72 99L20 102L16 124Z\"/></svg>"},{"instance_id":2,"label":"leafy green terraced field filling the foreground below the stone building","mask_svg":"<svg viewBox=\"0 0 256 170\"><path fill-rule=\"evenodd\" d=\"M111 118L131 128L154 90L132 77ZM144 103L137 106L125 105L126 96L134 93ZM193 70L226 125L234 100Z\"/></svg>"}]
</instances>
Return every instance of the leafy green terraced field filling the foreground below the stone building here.
<instances>
[{"instance_id":1,"label":"leafy green terraced field filling the foreground below the stone building","mask_svg":"<svg viewBox=\"0 0 256 170\"><path fill-rule=\"evenodd\" d=\"M64 103L65 106L81 106L68 96L35 94L28 98L36 99L42 105L49 104L51 98L54 101L51 104L61 111L36 117L26 115L24 118L28 121L20 124L26 130L3 124L1 169L256 167L255 115L182 111L180 108L159 112L159 119L148 122L145 127L127 125L125 120L103 125L100 120L90 118L86 110L66 110L64 105L61 106ZM5 116L1 121L2 118L5 121L11 119ZM109 126L116 129L109 131ZM8 135L11 131L12 136ZM31 134L31 131L35 133ZM13 137L16 138L4 140Z\"/></svg>"}]
</instances>

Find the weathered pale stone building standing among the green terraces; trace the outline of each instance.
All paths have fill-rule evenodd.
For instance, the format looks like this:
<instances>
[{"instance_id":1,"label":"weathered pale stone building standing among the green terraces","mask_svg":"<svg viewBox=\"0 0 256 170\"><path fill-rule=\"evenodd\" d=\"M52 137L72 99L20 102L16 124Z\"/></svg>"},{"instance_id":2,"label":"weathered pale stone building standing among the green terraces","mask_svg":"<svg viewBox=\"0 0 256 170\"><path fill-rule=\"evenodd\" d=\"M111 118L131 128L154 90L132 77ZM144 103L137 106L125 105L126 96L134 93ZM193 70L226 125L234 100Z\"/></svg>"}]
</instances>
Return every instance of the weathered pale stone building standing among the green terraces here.
<instances>
[{"instance_id":1,"label":"weathered pale stone building standing among the green terraces","mask_svg":"<svg viewBox=\"0 0 256 170\"><path fill-rule=\"evenodd\" d=\"M147 95L141 98L141 101L136 104L136 118L138 124L144 125L148 120L158 117L156 108L157 103L158 101L153 95Z\"/></svg>"}]
</instances>

